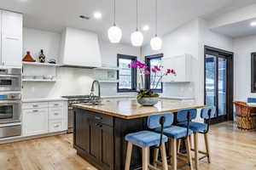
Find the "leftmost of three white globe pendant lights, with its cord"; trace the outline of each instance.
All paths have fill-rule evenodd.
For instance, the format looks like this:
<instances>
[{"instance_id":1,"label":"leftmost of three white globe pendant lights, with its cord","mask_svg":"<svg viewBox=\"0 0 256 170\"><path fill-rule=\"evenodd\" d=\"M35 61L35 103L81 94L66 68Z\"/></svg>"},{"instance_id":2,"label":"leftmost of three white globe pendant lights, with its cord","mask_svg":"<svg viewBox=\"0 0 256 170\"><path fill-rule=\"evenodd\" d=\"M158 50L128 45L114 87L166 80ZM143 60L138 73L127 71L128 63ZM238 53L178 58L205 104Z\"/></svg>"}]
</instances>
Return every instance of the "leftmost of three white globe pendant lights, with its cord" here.
<instances>
[{"instance_id":1,"label":"leftmost of three white globe pendant lights, with its cord","mask_svg":"<svg viewBox=\"0 0 256 170\"><path fill-rule=\"evenodd\" d=\"M112 43L119 43L121 38L122 31L115 25L115 0L113 0L113 26L108 29L108 39Z\"/></svg>"}]
</instances>

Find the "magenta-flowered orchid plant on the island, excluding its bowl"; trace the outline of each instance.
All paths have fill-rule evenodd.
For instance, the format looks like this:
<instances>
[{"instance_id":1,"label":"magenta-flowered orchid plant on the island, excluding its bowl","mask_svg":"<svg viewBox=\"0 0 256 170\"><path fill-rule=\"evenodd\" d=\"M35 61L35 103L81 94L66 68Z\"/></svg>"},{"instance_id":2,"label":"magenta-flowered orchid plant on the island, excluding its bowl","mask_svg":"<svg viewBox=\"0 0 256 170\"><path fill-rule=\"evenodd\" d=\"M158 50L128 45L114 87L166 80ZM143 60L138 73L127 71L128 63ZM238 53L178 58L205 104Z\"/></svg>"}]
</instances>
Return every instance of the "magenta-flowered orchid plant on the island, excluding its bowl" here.
<instances>
[{"instance_id":1,"label":"magenta-flowered orchid plant on the island, excluding its bowl","mask_svg":"<svg viewBox=\"0 0 256 170\"><path fill-rule=\"evenodd\" d=\"M150 75L150 73L153 73L153 82L150 82L150 87L151 85L153 85L153 88L157 88L159 83L162 81L163 77L172 74L174 76L176 76L176 71L174 71L173 69L164 69L163 66L161 65L153 65L153 67L150 69L148 68L148 65L146 65L145 63L142 63L140 61L134 61L131 64L128 65L129 68L136 68L139 71L139 75L141 77L141 82L143 85L143 88L145 87L144 85L144 80L143 77L145 75ZM157 77L158 80L157 80ZM154 85L154 82L155 85ZM141 89L138 91L138 98L143 98L143 97L158 97L158 94L154 94L153 91L151 89Z\"/></svg>"}]
</instances>

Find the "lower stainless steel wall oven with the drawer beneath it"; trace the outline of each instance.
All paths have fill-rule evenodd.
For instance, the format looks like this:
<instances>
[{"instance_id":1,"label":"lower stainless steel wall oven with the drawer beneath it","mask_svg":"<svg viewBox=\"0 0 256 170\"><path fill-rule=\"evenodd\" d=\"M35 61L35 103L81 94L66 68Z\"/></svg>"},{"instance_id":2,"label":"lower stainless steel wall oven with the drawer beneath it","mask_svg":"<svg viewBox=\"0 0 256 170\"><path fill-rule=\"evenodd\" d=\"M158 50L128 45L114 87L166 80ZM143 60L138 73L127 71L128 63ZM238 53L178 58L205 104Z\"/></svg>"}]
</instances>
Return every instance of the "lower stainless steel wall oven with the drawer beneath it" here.
<instances>
[{"instance_id":1,"label":"lower stainless steel wall oven with the drawer beneath it","mask_svg":"<svg viewBox=\"0 0 256 170\"><path fill-rule=\"evenodd\" d=\"M0 93L0 138L21 134L21 96L20 92Z\"/></svg>"}]
</instances>

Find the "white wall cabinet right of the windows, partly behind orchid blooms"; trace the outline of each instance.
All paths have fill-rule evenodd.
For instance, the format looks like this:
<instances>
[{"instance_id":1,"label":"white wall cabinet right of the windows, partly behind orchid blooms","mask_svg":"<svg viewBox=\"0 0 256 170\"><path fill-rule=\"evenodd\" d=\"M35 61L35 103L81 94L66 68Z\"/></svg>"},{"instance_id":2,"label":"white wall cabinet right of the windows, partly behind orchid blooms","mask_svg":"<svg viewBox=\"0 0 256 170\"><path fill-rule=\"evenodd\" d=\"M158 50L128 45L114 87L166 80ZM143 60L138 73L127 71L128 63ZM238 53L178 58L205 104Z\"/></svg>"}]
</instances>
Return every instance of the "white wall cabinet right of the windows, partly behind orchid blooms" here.
<instances>
[{"instance_id":1,"label":"white wall cabinet right of the windows, partly behind orchid blooms","mask_svg":"<svg viewBox=\"0 0 256 170\"><path fill-rule=\"evenodd\" d=\"M189 54L164 57L162 59L164 68L174 69L177 76L168 75L163 78L163 82L191 82L191 58Z\"/></svg>"}]
</instances>

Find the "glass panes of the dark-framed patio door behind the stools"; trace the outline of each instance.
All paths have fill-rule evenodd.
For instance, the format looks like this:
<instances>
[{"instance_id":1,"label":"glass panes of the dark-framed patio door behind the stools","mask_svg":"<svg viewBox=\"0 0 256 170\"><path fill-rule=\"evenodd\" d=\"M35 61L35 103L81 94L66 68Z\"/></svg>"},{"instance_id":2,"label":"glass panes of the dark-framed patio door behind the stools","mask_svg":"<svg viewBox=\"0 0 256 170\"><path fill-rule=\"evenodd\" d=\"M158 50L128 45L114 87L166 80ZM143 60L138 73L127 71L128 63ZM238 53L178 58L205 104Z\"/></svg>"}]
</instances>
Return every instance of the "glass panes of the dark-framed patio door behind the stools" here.
<instances>
[{"instance_id":1,"label":"glass panes of the dark-framed patio door behind the stools","mask_svg":"<svg viewBox=\"0 0 256 170\"><path fill-rule=\"evenodd\" d=\"M206 54L205 101L216 107L215 118L227 115L227 59L215 53Z\"/></svg>"}]
</instances>

